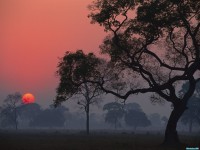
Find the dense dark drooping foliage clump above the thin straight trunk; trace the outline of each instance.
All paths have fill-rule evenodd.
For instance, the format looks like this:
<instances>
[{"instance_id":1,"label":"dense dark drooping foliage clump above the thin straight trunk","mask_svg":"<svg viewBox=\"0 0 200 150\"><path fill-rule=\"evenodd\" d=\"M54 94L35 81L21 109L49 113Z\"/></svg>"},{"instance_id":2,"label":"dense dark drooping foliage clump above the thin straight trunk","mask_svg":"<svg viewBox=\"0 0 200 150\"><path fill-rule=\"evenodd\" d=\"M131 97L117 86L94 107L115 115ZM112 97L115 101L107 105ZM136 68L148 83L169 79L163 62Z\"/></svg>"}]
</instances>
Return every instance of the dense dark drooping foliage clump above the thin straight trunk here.
<instances>
[{"instance_id":1,"label":"dense dark drooping foliage clump above the thin straight trunk","mask_svg":"<svg viewBox=\"0 0 200 150\"><path fill-rule=\"evenodd\" d=\"M60 83L57 88L55 105L69 99L73 95L84 93L86 81L94 79L99 74L98 65L100 61L93 53L84 54L82 50L75 53L66 52L58 63L57 75ZM98 89L94 85L87 85L94 93Z\"/></svg>"}]
</instances>

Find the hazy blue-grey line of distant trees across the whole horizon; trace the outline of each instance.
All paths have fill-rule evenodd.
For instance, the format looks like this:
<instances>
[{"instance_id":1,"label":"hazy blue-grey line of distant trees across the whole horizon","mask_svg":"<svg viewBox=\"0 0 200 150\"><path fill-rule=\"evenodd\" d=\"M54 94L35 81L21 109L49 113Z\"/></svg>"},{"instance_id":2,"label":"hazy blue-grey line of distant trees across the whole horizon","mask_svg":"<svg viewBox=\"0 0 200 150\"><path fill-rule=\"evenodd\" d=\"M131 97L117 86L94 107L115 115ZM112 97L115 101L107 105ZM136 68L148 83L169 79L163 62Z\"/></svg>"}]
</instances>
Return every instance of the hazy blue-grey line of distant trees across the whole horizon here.
<instances>
[{"instance_id":1,"label":"hazy blue-grey line of distant trees across the whole horizon","mask_svg":"<svg viewBox=\"0 0 200 150\"><path fill-rule=\"evenodd\" d=\"M187 84L186 84L187 85ZM184 86L186 86L184 85ZM180 91L181 93L181 91ZM77 98L77 101L80 100ZM199 125L198 92L192 97L189 109L181 118L182 125L188 125L191 132L194 125ZM85 107L84 107L85 108ZM87 123L84 122L90 117L93 128L99 129L129 129L135 131L141 127L165 127L168 118L160 116L158 113L146 114L137 103L110 102L103 106L103 114L91 113L84 117L83 112L70 112L63 105L54 107L50 105L44 109L37 103L23 104L21 94L16 92L9 94L0 107L0 127L1 128L65 128L84 129ZM85 111L85 109L84 109ZM87 122L87 121L86 121ZM110 125L110 126L109 126ZM86 128L88 133L88 128Z\"/></svg>"}]
</instances>

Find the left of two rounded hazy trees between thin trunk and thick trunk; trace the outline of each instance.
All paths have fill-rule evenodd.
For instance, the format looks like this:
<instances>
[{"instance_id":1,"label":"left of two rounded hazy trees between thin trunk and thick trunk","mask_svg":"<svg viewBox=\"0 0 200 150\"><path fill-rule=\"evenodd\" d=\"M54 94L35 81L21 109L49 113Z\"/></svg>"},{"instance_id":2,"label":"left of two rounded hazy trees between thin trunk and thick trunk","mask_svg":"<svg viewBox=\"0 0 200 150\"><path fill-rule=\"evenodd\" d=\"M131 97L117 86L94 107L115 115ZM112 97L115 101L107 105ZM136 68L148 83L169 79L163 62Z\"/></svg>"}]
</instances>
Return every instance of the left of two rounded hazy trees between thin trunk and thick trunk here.
<instances>
[{"instance_id":1,"label":"left of two rounded hazy trees between thin trunk and thick trunk","mask_svg":"<svg viewBox=\"0 0 200 150\"><path fill-rule=\"evenodd\" d=\"M107 103L103 107L104 111L107 111L105 116L105 122L111 124L116 129L120 127L120 119L124 116L123 105L117 102Z\"/></svg>"}]
</instances>

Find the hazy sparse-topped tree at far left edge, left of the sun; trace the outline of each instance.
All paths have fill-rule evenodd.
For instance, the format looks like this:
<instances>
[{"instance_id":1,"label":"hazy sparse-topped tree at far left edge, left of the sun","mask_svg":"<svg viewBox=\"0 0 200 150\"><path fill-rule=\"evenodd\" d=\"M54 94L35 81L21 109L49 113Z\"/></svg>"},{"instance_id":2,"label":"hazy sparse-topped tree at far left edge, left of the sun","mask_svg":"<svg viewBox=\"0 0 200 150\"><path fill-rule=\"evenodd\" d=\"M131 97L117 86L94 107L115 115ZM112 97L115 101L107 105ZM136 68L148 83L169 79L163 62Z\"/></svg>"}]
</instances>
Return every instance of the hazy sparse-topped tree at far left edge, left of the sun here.
<instances>
[{"instance_id":1,"label":"hazy sparse-topped tree at far left edge, left of the sun","mask_svg":"<svg viewBox=\"0 0 200 150\"><path fill-rule=\"evenodd\" d=\"M3 107L1 109L1 125L14 126L18 129L18 107L21 105L21 94L16 92L9 94L4 100Z\"/></svg>"}]
</instances>

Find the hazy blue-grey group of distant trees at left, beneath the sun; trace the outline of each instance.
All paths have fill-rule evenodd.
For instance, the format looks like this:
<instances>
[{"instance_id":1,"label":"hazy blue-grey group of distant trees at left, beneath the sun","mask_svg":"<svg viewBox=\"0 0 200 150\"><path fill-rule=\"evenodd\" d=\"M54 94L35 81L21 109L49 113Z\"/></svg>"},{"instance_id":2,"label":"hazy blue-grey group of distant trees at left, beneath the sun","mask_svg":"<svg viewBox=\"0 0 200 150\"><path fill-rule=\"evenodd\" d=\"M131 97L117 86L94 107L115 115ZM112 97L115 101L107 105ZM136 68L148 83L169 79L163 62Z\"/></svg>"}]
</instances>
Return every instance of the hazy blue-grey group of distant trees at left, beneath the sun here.
<instances>
[{"instance_id":1,"label":"hazy blue-grey group of distant trees at left, beneath the sun","mask_svg":"<svg viewBox=\"0 0 200 150\"><path fill-rule=\"evenodd\" d=\"M16 130L19 126L63 127L67 111L64 106L42 109L37 103L22 104L21 94L14 93L7 96L0 109L0 126Z\"/></svg>"}]
</instances>

